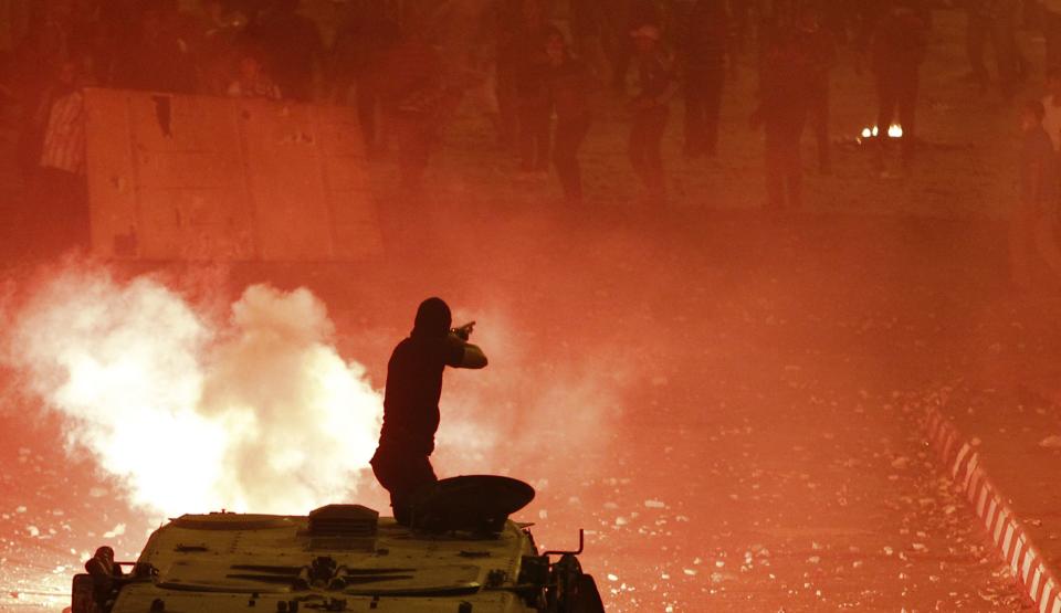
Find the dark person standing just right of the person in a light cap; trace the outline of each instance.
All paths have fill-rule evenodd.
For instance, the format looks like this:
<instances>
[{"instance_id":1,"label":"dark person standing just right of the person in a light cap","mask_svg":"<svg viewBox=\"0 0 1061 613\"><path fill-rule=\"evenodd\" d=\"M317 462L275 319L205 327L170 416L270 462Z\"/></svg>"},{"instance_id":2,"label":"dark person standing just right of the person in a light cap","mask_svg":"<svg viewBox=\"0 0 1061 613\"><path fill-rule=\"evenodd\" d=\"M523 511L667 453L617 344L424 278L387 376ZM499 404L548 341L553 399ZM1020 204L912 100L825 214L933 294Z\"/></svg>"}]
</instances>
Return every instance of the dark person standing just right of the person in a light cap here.
<instances>
[{"instance_id":1,"label":"dark person standing just right of the person in a light cap","mask_svg":"<svg viewBox=\"0 0 1061 613\"><path fill-rule=\"evenodd\" d=\"M685 76L685 157L715 157L718 114L731 53L729 14L723 0L696 0L680 38Z\"/></svg>"}]
</instances>

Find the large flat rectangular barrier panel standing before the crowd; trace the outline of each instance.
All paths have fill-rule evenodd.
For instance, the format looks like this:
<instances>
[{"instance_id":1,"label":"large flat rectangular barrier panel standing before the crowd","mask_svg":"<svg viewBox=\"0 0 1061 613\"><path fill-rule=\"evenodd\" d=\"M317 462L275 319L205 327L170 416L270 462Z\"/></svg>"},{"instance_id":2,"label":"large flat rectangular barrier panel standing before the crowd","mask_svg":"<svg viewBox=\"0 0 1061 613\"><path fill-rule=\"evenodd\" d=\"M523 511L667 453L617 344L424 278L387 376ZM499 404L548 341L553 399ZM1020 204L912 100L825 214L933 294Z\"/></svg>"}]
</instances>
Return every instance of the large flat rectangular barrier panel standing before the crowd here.
<instances>
[{"instance_id":1,"label":"large flat rectangular barrier panel standing before the crowd","mask_svg":"<svg viewBox=\"0 0 1061 613\"><path fill-rule=\"evenodd\" d=\"M349 108L101 88L85 105L98 255L304 262L381 251Z\"/></svg>"}]
</instances>

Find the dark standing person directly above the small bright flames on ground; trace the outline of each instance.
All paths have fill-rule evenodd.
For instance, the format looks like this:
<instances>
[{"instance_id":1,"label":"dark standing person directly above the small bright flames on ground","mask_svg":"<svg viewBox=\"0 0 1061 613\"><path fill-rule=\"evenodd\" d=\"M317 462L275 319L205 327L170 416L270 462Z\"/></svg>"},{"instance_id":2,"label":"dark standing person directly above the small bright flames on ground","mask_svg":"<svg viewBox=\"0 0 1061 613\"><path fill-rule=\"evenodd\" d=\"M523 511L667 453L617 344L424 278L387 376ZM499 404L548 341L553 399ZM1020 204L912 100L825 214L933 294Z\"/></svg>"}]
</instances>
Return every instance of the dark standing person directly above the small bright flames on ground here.
<instances>
[{"instance_id":1,"label":"dark standing person directly above the small bright flames on ground","mask_svg":"<svg viewBox=\"0 0 1061 613\"><path fill-rule=\"evenodd\" d=\"M926 25L907 1L896 1L873 28L871 63L876 77L879 140L887 139L887 128L899 116L903 128L904 167L913 161L917 139L917 93L921 64L926 55ZM883 161L883 159L881 160Z\"/></svg>"}]
</instances>

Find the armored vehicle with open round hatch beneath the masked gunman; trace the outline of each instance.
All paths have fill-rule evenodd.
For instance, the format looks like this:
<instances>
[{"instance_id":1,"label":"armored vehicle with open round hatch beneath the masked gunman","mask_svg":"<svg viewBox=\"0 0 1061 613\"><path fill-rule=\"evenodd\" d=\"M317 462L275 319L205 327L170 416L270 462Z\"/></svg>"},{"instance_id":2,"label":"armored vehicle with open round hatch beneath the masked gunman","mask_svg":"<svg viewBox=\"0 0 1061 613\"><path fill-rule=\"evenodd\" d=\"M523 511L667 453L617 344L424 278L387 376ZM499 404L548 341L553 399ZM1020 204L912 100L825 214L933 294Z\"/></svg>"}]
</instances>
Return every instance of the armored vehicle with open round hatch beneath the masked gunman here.
<instances>
[{"instance_id":1,"label":"armored vehicle with open round hatch beneath the masked gunman","mask_svg":"<svg viewBox=\"0 0 1061 613\"><path fill-rule=\"evenodd\" d=\"M408 527L359 505L183 515L105 589L76 575L72 612L602 612L581 533L578 551L539 552L508 519L533 497L523 482L466 476L439 482Z\"/></svg>"}]
</instances>

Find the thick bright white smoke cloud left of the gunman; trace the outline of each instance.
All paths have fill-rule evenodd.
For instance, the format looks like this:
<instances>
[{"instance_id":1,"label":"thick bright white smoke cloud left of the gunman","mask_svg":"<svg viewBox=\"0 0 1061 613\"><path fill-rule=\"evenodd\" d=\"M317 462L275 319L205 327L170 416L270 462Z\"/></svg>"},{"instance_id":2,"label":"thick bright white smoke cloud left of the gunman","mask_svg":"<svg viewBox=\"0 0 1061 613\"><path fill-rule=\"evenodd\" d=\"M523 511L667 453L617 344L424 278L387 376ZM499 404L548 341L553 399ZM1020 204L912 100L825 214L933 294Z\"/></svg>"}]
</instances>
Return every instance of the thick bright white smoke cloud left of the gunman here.
<instances>
[{"instance_id":1,"label":"thick bright white smoke cloud left of the gunman","mask_svg":"<svg viewBox=\"0 0 1061 613\"><path fill-rule=\"evenodd\" d=\"M302 514L365 477L382 401L308 290L252 286L216 324L157 279L71 267L10 318L7 366L138 506Z\"/></svg>"}]
</instances>

